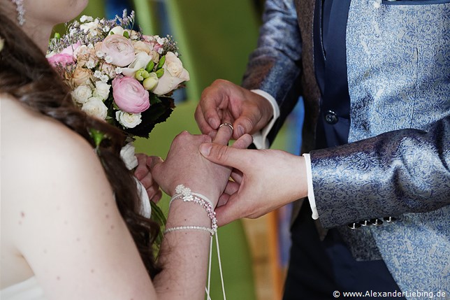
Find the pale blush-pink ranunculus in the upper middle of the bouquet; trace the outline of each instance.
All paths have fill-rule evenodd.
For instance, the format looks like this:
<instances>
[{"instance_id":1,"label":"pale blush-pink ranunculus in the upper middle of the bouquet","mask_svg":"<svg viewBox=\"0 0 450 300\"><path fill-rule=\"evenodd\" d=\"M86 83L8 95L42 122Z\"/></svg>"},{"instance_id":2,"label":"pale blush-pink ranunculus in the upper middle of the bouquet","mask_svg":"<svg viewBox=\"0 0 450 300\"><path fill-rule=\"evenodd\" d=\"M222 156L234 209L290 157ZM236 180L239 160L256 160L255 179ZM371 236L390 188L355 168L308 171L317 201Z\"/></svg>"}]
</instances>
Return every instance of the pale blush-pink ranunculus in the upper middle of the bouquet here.
<instances>
[{"instance_id":1,"label":"pale blush-pink ranunculus in the upper middle of the bouquet","mask_svg":"<svg viewBox=\"0 0 450 300\"><path fill-rule=\"evenodd\" d=\"M106 62L116 66L128 66L134 60L133 44L119 34L107 36L101 43L101 51L106 55Z\"/></svg>"}]
</instances>

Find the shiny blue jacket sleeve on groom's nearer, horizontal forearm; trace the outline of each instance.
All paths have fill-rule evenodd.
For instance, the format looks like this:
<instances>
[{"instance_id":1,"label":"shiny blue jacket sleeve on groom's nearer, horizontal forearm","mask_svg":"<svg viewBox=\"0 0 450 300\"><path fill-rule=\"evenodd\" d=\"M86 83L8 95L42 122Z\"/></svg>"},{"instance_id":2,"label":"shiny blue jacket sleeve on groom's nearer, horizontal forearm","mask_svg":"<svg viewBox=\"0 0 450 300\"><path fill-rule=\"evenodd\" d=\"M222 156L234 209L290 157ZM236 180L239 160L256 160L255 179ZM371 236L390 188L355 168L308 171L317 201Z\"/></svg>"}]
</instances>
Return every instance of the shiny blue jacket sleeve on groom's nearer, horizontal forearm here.
<instances>
[{"instance_id":1,"label":"shiny blue jacket sleeve on groom's nearer, horizontal forearm","mask_svg":"<svg viewBox=\"0 0 450 300\"><path fill-rule=\"evenodd\" d=\"M391 131L310 157L325 228L450 204L450 116L428 132Z\"/></svg>"}]
</instances>

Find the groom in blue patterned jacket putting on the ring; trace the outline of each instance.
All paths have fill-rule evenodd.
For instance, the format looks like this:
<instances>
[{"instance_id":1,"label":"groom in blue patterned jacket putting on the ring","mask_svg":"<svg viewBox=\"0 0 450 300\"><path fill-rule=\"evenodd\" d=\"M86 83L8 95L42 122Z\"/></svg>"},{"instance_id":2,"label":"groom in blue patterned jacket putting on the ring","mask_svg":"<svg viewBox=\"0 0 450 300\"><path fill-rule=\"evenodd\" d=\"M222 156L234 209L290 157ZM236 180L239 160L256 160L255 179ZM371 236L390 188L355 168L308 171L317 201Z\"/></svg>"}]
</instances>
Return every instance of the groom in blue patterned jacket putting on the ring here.
<instances>
[{"instance_id":1,"label":"groom in blue patterned jacket putting on the ring","mask_svg":"<svg viewBox=\"0 0 450 300\"><path fill-rule=\"evenodd\" d=\"M441 0L267 0L242 87L203 92L201 131L229 114L257 148L304 99L312 188L296 203L284 299L450 293L448 15ZM208 159L235 164L217 148Z\"/></svg>"}]
</instances>

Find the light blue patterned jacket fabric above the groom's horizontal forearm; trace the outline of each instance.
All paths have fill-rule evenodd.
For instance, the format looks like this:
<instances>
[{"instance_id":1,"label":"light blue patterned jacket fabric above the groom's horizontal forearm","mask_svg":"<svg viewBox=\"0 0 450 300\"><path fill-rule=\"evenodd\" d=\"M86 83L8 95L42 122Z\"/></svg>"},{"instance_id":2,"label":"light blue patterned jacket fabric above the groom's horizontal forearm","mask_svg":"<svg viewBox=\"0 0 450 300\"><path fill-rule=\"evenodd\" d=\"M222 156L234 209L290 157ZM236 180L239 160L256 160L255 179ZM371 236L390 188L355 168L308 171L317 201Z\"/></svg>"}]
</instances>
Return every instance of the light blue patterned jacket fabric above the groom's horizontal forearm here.
<instances>
[{"instance_id":1,"label":"light blue patterned jacket fabric above the groom's horizontal forearm","mask_svg":"<svg viewBox=\"0 0 450 300\"><path fill-rule=\"evenodd\" d=\"M349 142L396 129L428 130L450 114L450 1L380 2L351 1L349 9Z\"/></svg>"}]
</instances>

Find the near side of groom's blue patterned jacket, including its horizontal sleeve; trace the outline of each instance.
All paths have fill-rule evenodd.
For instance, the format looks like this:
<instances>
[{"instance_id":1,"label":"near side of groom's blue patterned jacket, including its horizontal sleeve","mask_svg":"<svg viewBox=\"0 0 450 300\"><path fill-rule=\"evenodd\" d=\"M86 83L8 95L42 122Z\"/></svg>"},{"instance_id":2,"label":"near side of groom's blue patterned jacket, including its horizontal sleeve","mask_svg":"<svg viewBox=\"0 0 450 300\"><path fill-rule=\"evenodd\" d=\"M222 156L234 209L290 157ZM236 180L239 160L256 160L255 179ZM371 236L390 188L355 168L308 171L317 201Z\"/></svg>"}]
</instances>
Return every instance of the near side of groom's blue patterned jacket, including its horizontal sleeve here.
<instances>
[{"instance_id":1,"label":"near side of groom's blue patterned jacket, including its horizontal sleeve","mask_svg":"<svg viewBox=\"0 0 450 300\"><path fill-rule=\"evenodd\" d=\"M401 215L340 232L355 257L381 254L403 291L450 292L450 3L442 2L351 1L349 142L360 142L311 154L325 227Z\"/></svg>"}]
</instances>

